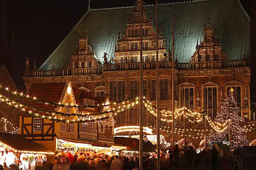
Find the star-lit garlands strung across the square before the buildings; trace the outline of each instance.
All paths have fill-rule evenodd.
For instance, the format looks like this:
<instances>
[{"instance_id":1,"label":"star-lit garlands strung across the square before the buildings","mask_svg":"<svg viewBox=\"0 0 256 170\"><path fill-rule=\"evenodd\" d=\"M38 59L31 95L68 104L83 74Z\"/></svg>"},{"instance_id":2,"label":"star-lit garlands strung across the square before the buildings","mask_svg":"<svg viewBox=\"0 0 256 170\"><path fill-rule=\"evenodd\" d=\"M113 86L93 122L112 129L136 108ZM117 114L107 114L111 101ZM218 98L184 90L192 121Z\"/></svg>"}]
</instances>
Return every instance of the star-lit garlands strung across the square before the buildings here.
<instances>
[{"instance_id":1,"label":"star-lit garlands strung across the square before the buildings","mask_svg":"<svg viewBox=\"0 0 256 170\"><path fill-rule=\"evenodd\" d=\"M100 105L91 105L91 106L83 106L83 105L77 105L77 104L61 104L61 103L55 103L55 102L47 102L47 101L43 101L43 100L40 100L40 99L37 99L36 96L34 97L30 97L29 95L25 95L23 93L18 93L16 91L12 91L10 90L8 87L6 88L3 88L2 86L0 86L0 89L5 89L7 92L11 93L12 95L16 95L16 96L19 96L21 98L26 98L26 99L29 99L31 101L35 101L35 102L39 102L39 103L45 103L46 105L48 104L51 104L51 105L56 105L56 106L59 106L59 107L83 107L83 108L88 108L88 107L99 107ZM0 96L1 97L1 96ZM129 103L129 101L126 101L128 104L125 105L126 102L120 102L123 104L122 107L118 107L118 108L109 108L107 111L104 111L104 112L101 112L101 113L90 113L89 115L81 115L81 114L68 114L68 116L72 116L74 117L72 120L70 120L70 117L69 119L66 119L67 117L67 113L61 113L61 112L53 112L53 113L49 113L48 111L46 110L42 110L42 109L39 109L39 108L32 108L30 106L24 106L24 105L21 105L21 104L17 104L17 102L10 102L8 98L1 98L1 102L6 102L8 105L12 106L12 107L15 107L15 108L20 108L22 111L26 111L27 113L29 114L35 114L36 116L40 116L44 119L54 119L56 121L61 121L61 122L91 122L91 121L97 121L97 120L104 120L104 119L108 119L109 117L112 117L114 115L117 115L119 113L122 113L123 111L127 111L127 110L130 110L130 108L134 107L135 105L137 105L139 103L139 97L136 97L134 99L134 102L131 102L132 104ZM120 103L113 103L113 105L117 105L117 104L120 104ZM153 116L156 116L157 115L157 110L156 108L152 105L152 102L150 102L149 100L146 99L146 97L144 96L143 97L143 104L144 104L144 107L148 110L148 112L150 114L152 114ZM104 105L105 107L108 107L109 105L105 105L105 104L102 104ZM29 109L27 109L29 108ZM28 111L29 110L29 111ZM37 113L35 113L37 112ZM172 122L172 112L171 111L165 111L165 110L162 110L160 111L161 115L160 115L160 121L162 122ZM44 114L44 115L42 115ZM201 122L203 120L203 116L202 114L200 113L197 113L197 112L192 112L191 110L187 109L186 107L182 107L182 108L179 108L177 110L175 110L174 112L174 117L175 119L178 119L179 116L181 115L185 115L186 119L188 119L190 122ZM57 116L56 116L57 115ZM103 116L102 116L103 115ZM63 116L63 117L60 117L58 118L58 116ZM97 117L98 116L98 117ZM217 132L221 132L221 131L224 131L226 128L227 128L227 122L229 120L227 120L227 122L225 123L218 123L218 122L215 122L213 120L210 119L210 117L206 116L207 117L207 121L208 123L210 124L210 126Z\"/></svg>"}]
</instances>

